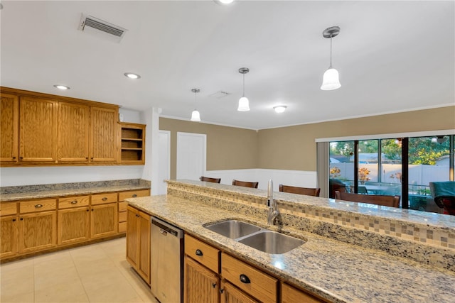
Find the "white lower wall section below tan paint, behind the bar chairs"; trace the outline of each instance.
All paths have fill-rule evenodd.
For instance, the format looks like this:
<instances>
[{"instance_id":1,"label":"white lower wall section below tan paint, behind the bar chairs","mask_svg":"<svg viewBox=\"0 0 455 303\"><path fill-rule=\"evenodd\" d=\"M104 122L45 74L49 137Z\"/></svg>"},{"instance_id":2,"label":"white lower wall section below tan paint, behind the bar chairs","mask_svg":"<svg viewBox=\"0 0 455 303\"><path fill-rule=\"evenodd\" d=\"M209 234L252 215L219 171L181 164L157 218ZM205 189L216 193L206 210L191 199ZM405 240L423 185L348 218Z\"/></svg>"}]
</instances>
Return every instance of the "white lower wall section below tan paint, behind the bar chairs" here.
<instances>
[{"instance_id":1,"label":"white lower wall section below tan paint, behind the bar chairs","mask_svg":"<svg viewBox=\"0 0 455 303\"><path fill-rule=\"evenodd\" d=\"M259 182L257 188L267 189L269 180L273 180L274 192L279 191L279 184L314 188L317 184L316 172L303 170L210 170L205 177L221 178L221 184L232 184L232 180Z\"/></svg>"}]
</instances>

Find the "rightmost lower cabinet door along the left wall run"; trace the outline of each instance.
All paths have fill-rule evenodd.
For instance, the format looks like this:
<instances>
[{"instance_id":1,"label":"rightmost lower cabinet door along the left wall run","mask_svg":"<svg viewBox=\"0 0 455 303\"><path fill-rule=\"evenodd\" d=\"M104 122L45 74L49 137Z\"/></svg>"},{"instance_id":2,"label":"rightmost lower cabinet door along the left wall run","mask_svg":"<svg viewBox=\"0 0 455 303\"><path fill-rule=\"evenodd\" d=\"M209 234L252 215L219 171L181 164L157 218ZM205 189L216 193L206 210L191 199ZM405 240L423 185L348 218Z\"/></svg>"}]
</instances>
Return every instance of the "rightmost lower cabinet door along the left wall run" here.
<instances>
[{"instance_id":1,"label":"rightmost lower cabinet door along the left wall run","mask_svg":"<svg viewBox=\"0 0 455 303\"><path fill-rule=\"evenodd\" d=\"M101 238L117 233L117 202L94 205L90 213L91 238Z\"/></svg>"}]
</instances>

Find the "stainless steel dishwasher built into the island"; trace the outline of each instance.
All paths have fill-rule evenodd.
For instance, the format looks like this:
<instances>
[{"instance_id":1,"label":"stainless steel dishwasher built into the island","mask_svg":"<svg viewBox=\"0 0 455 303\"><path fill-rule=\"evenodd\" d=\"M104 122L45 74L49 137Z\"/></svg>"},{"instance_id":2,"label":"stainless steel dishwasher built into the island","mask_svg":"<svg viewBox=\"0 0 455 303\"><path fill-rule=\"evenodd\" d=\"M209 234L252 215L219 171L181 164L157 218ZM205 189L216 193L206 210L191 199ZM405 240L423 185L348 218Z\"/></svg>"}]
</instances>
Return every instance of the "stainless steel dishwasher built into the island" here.
<instances>
[{"instance_id":1,"label":"stainless steel dishwasher built into the island","mask_svg":"<svg viewBox=\"0 0 455 303\"><path fill-rule=\"evenodd\" d=\"M161 303L183 302L183 231L151 218L150 285Z\"/></svg>"}]
</instances>

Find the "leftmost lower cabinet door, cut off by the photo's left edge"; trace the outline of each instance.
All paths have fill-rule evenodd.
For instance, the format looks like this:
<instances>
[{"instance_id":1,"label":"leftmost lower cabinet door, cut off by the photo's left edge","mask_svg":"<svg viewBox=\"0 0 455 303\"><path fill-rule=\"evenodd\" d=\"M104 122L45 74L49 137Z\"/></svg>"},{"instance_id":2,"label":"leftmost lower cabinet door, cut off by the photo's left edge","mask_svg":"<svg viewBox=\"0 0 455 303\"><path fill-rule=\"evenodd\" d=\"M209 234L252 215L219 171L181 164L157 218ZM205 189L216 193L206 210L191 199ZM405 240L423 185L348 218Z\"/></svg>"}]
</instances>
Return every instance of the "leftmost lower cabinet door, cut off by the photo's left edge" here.
<instances>
[{"instance_id":1,"label":"leftmost lower cabinet door, cut off by the photo's left edge","mask_svg":"<svg viewBox=\"0 0 455 303\"><path fill-rule=\"evenodd\" d=\"M16 255L18 252L18 217L0 217L0 258Z\"/></svg>"}]
</instances>

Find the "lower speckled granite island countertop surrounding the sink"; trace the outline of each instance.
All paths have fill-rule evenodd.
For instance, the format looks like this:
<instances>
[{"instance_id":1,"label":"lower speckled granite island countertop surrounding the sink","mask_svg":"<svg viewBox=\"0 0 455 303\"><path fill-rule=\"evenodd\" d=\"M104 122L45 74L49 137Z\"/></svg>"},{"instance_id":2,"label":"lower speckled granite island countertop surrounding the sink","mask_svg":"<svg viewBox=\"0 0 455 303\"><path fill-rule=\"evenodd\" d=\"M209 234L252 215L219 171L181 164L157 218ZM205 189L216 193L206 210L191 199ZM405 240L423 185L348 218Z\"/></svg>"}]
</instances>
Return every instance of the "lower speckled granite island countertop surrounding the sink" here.
<instances>
[{"instance_id":1,"label":"lower speckled granite island countertop surrounding the sink","mask_svg":"<svg viewBox=\"0 0 455 303\"><path fill-rule=\"evenodd\" d=\"M265 217L258 220L166 195L127 199L127 202L331 302L454 301L455 272L449 270L288 226L283 231L306 243L281 255L262 253L203 226L240 219L267 227ZM269 229L276 230L277 226Z\"/></svg>"}]
</instances>

